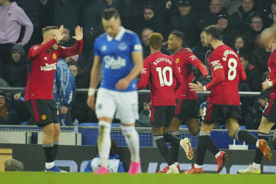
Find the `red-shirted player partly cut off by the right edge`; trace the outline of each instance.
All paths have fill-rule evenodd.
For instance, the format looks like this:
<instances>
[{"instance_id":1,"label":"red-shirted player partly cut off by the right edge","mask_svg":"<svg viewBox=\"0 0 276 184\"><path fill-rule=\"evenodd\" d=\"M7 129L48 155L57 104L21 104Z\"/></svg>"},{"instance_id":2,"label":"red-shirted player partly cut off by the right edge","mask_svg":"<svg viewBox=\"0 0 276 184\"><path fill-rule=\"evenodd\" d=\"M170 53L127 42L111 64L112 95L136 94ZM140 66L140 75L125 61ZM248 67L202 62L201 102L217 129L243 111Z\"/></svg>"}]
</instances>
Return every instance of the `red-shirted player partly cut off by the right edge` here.
<instances>
[{"instance_id":1,"label":"red-shirted player partly cut off by the right edge","mask_svg":"<svg viewBox=\"0 0 276 184\"><path fill-rule=\"evenodd\" d=\"M262 32L262 35L266 35L270 37L267 39L268 47L273 50L271 53L267 66L269 69L269 79L266 79L262 83L262 89L266 90L272 87L270 91L270 100L267 103L264 112L262 114L262 120L260 126L258 128L258 138L264 139L266 141L269 140L268 133L270 129L276 122L276 102L274 101L276 98L276 34L275 34L275 27L267 28ZM266 153L270 154L270 152ZM262 161L263 153L260 152L259 149L256 149L256 155L254 158L254 162L250 165L246 170L239 170L241 174L260 174L261 173L261 161Z\"/></svg>"}]
</instances>

